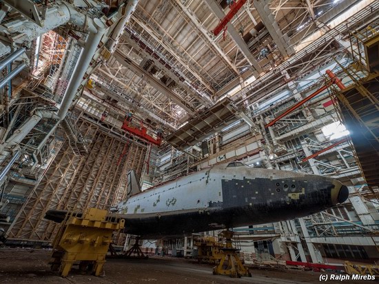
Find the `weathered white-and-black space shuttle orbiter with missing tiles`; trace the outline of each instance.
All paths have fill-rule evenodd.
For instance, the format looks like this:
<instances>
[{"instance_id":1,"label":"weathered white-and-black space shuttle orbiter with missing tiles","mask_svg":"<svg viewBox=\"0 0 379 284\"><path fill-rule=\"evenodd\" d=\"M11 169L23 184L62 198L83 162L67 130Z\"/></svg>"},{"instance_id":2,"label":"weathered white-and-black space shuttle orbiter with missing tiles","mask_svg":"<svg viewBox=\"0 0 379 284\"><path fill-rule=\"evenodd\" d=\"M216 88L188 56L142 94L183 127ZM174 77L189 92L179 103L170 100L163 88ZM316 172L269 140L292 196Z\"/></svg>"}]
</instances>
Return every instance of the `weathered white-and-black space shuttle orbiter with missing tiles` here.
<instances>
[{"instance_id":1,"label":"weathered white-and-black space shuttle orbiter with missing tiles","mask_svg":"<svg viewBox=\"0 0 379 284\"><path fill-rule=\"evenodd\" d=\"M327 176L240 162L214 165L144 192L132 179L129 186L134 195L112 207L111 214L125 219L125 233L145 238L285 221L320 212L349 196L345 185ZM49 210L45 218L59 221L66 213Z\"/></svg>"}]
</instances>

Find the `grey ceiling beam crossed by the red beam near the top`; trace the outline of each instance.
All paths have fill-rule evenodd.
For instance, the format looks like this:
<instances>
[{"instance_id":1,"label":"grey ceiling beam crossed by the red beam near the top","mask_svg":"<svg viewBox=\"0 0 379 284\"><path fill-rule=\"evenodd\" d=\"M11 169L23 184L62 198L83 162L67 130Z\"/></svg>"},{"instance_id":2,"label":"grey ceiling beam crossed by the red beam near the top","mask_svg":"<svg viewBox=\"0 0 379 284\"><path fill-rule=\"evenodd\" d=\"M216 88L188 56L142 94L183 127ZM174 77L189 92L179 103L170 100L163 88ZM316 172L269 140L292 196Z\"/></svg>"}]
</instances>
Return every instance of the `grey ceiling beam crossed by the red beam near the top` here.
<instances>
[{"instance_id":1,"label":"grey ceiling beam crossed by the red beam near the top","mask_svg":"<svg viewBox=\"0 0 379 284\"><path fill-rule=\"evenodd\" d=\"M225 13L223 12L223 9L221 9L220 5L214 0L204 0L205 3L209 6L210 10L218 17L218 19L223 19L225 17ZM260 73L262 72L262 69L260 68L260 65L258 64L258 61L254 58L252 52L250 52L249 48L247 47L247 44L245 41L243 41L242 37L240 37L240 34L236 31L232 23L227 23L227 31L229 32L230 36L236 44L238 45L238 48L240 48L240 51L243 53L247 61L254 67L254 69ZM258 75L258 74L257 74Z\"/></svg>"}]
</instances>

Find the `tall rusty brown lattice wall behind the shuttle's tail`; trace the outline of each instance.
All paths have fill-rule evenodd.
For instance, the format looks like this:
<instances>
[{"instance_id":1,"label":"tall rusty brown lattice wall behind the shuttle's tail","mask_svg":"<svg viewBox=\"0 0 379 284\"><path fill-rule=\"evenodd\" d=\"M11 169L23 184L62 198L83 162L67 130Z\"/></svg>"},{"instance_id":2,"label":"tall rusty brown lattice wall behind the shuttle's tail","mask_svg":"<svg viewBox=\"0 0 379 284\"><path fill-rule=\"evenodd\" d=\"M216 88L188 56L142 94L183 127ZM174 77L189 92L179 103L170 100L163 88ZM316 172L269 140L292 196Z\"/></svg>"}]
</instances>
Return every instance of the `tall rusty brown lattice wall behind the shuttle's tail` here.
<instances>
[{"instance_id":1,"label":"tall rusty brown lattice wall behind the shuttle's tail","mask_svg":"<svg viewBox=\"0 0 379 284\"><path fill-rule=\"evenodd\" d=\"M76 156L68 142L34 187L9 230L10 238L51 241L57 223L43 219L49 208L68 210L88 207L107 209L123 199L127 172L141 175L146 148L101 132L88 121L79 121L83 136L90 138L90 152ZM121 157L121 163L116 161Z\"/></svg>"}]
</instances>

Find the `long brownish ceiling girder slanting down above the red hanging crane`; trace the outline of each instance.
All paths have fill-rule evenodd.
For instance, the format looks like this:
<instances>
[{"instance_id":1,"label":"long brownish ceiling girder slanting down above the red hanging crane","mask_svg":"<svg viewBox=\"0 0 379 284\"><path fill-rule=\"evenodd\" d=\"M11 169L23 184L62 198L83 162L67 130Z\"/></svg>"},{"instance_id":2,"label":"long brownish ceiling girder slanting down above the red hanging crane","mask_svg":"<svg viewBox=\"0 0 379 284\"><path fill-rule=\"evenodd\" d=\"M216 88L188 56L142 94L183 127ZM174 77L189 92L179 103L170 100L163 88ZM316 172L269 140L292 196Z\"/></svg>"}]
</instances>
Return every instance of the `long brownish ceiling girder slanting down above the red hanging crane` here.
<instances>
[{"instance_id":1,"label":"long brownish ceiling girder slanting down above the red hanging crane","mask_svg":"<svg viewBox=\"0 0 379 284\"><path fill-rule=\"evenodd\" d=\"M179 97L178 94L167 88L167 86L164 83L156 79L154 76L152 76L152 74L143 70L143 68L141 68L139 65L134 63L132 60L128 59L126 54L124 54L120 50L116 50L112 56L114 57L114 59L119 61L119 63L121 63L127 68L130 68L130 70L132 70L136 74L143 75L143 79L147 83L152 85L154 88L156 88L156 90L158 90L162 94L165 94L167 97L172 99L172 101L180 105L181 108L183 108L186 112L188 112L189 114L193 114L194 112L196 112L196 109L192 105L189 105L184 99Z\"/></svg>"}]
</instances>

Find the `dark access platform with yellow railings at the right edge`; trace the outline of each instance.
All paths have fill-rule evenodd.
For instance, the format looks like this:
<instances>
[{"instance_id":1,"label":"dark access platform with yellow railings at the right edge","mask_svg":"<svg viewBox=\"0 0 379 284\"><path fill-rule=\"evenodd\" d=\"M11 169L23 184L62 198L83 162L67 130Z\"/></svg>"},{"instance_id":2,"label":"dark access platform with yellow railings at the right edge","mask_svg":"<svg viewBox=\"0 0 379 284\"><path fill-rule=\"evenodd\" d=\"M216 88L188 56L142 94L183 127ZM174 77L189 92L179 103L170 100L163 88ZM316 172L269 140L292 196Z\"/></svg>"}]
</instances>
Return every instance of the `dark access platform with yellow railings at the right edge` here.
<instances>
[{"instance_id":1,"label":"dark access platform with yellow railings at the right edge","mask_svg":"<svg viewBox=\"0 0 379 284\"><path fill-rule=\"evenodd\" d=\"M371 27L351 36L351 46L357 46L353 64L340 65L346 76L354 82L347 89L334 90L338 99L338 110L342 121L351 130L351 140L357 156L357 162L370 187L379 187L379 74L376 70L378 62L371 56L376 52L373 46L379 46L379 34ZM365 61L362 55L365 49ZM360 69L357 69L360 68Z\"/></svg>"}]
</instances>

